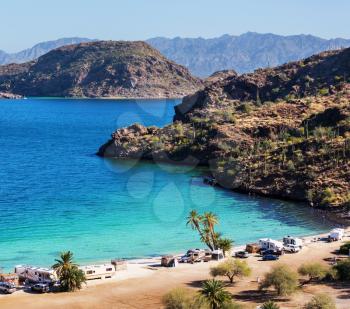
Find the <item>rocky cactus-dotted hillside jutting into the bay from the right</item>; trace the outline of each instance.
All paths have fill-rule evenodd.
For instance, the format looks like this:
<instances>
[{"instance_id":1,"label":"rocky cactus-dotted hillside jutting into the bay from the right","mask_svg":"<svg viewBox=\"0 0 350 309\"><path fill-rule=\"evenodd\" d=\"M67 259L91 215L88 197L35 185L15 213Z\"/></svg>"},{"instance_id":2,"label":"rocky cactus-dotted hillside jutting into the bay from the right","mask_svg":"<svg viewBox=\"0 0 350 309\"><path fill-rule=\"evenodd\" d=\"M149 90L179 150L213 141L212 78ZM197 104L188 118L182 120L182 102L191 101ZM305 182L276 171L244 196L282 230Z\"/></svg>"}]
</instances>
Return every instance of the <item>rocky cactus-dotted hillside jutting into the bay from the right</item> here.
<instances>
[{"instance_id":1,"label":"rocky cactus-dotted hillside jutting into the bay from the right","mask_svg":"<svg viewBox=\"0 0 350 309\"><path fill-rule=\"evenodd\" d=\"M350 49L217 74L174 123L117 130L99 155L208 165L223 187L350 208Z\"/></svg>"}]
</instances>

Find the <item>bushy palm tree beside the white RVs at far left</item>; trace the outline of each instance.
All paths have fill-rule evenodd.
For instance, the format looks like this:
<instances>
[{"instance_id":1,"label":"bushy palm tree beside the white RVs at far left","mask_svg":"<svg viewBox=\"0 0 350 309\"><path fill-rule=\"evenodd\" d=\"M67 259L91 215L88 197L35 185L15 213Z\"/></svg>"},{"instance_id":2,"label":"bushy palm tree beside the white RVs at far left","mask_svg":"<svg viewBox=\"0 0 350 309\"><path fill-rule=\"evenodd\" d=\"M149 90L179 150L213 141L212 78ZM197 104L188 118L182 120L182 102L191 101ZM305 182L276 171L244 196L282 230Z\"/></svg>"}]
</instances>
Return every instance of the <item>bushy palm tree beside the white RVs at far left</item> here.
<instances>
[{"instance_id":1,"label":"bushy palm tree beside the white RVs at far left","mask_svg":"<svg viewBox=\"0 0 350 309\"><path fill-rule=\"evenodd\" d=\"M52 266L55 270L63 291L75 291L82 288L86 282L85 274L73 262L73 253L71 251L62 252L59 259Z\"/></svg>"}]
</instances>

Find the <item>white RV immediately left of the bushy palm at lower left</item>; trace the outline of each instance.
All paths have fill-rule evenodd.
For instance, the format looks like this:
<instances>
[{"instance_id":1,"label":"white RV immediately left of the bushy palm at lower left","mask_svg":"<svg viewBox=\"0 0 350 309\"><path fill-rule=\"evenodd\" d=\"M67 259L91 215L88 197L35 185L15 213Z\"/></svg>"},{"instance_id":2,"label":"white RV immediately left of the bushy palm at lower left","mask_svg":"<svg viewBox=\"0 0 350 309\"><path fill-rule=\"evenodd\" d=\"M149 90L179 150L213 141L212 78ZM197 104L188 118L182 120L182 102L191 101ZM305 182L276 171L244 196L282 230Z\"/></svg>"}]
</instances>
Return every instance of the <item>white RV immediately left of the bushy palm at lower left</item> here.
<instances>
[{"instance_id":1,"label":"white RV immediately left of the bushy palm at lower left","mask_svg":"<svg viewBox=\"0 0 350 309\"><path fill-rule=\"evenodd\" d=\"M53 269L18 265L15 267L15 273L20 280L28 280L34 283L53 283L57 281L57 276Z\"/></svg>"}]
</instances>

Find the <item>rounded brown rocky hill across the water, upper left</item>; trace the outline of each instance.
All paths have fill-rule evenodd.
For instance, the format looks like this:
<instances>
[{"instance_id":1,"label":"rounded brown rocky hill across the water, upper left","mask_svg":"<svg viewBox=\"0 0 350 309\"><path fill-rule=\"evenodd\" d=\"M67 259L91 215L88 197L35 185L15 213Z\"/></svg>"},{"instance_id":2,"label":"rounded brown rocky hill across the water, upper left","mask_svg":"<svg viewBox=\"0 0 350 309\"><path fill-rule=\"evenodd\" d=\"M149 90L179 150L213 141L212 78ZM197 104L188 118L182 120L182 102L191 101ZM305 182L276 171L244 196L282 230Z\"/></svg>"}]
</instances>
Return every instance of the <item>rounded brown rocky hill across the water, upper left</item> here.
<instances>
[{"instance_id":1,"label":"rounded brown rocky hill across the water, upper left","mask_svg":"<svg viewBox=\"0 0 350 309\"><path fill-rule=\"evenodd\" d=\"M24 96L183 97L202 86L144 42L68 45L25 64L0 67L0 91Z\"/></svg>"}]
</instances>

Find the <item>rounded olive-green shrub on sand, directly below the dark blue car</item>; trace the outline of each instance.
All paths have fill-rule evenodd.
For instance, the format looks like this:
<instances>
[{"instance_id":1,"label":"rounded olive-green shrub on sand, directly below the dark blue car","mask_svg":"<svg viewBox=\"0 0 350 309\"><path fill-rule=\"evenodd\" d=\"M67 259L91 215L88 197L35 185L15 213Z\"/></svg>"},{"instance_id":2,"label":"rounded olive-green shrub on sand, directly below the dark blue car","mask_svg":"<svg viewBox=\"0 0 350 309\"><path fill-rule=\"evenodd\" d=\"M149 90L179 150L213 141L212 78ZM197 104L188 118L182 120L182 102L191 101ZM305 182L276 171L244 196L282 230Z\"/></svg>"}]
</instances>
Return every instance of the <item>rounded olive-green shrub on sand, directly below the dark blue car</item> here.
<instances>
[{"instance_id":1,"label":"rounded olive-green shrub on sand, directly below the dark blue car","mask_svg":"<svg viewBox=\"0 0 350 309\"><path fill-rule=\"evenodd\" d=\"M298 274L287 265L275 266L265 275L260 284L260 290L273 287L277 295L287 296L293 294L298 287Z\"/></svg>"}]
</instances>

